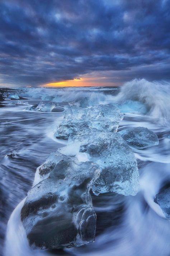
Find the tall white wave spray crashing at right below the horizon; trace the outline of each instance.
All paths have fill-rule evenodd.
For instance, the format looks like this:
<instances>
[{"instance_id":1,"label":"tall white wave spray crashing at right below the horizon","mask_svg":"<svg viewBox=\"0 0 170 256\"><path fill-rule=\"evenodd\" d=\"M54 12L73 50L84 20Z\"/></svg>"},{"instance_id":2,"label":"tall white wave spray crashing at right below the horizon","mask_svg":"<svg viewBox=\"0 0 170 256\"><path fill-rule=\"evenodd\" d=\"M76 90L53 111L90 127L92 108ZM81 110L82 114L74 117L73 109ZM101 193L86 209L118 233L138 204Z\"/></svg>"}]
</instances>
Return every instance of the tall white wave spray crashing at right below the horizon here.
<instances>
[{"instance_id":1,"label":"tall white wave spray crashing at right below the horizon","mask_svg":"<svg viewBox=\"0 0 170 256\"><path fill-rule=\"evenodd\" d=\"M126 105L130 101L129 107L133 105L133 102L140 102L147 107L149 115L156 117L160 123L165 124L170 122L169 99L170 83L133 79L122 86L121 92L115 97L114 101Z\"/></svg>"}]
</instances>

